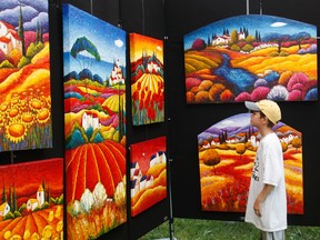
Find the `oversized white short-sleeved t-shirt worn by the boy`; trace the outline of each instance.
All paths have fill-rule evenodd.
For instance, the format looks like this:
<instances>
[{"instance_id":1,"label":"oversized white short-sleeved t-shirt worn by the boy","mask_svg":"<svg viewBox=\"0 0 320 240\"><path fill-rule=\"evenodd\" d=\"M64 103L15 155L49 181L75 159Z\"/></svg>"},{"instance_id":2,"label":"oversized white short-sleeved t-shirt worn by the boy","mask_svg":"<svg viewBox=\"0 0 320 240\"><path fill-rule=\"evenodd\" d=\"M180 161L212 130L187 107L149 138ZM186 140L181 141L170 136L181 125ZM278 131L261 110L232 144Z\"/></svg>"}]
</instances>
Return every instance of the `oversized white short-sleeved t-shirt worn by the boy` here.
<instances>
[{"instance_id":1,"label":"oversized white short-sleeved t-shirt worn by the boy","mask_svg":"<svg viewBox=\"0 0 320 240\"><path fill-rule=\"evenodd\" d=\"M254 213L253 204L264 184L274 186L261 204L261 217ZM274 232L287 229L287 194L283 170L283 153L274 132L264 136L257 150L246 210L246 222L258 229Z\"/></svg>"}]
</instances>

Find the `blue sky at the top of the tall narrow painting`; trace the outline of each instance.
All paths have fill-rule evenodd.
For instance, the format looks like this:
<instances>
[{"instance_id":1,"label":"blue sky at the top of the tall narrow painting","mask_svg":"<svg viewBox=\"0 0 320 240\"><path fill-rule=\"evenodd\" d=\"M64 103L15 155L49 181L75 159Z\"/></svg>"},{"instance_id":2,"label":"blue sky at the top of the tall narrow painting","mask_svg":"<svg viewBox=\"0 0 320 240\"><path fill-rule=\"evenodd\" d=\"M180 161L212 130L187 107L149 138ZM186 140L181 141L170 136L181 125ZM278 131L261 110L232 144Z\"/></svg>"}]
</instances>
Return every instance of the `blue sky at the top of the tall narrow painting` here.
<instances>
[{"instance_id":1,"label":"blue sky at the top of the tall narrow painting","mask_svg":"<svg viewBox=\"0 0 320 240\"><path fill-rule=\"evenodd\" d=\"M97 47L101 62L113 63L120 60L120 64L126 67L126 31L71 4L63 4L62 14L64 56L78 38L86 37ZM72 66L71 69L77 70Z\"/></svg>"}]
</instances>

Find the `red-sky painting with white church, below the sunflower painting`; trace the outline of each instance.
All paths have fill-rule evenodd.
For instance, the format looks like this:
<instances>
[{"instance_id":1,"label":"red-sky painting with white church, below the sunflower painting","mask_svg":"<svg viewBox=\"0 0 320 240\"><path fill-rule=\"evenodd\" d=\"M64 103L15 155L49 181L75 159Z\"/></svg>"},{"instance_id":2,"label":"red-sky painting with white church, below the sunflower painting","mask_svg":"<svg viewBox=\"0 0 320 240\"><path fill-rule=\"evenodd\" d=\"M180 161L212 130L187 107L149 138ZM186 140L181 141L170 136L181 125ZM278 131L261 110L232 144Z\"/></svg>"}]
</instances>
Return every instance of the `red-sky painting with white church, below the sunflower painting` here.
<instances>
[{"instance_id":1,"label":"red-sky painting with white church, below the sunflower painting","mask_svg":"<svg viewBox=\"0 0 320 240\"><path fill-rule=\"evenodd\" d=\"M63 159L0 167L0 238L63 239Z\"/></svg>"}]
</instances>

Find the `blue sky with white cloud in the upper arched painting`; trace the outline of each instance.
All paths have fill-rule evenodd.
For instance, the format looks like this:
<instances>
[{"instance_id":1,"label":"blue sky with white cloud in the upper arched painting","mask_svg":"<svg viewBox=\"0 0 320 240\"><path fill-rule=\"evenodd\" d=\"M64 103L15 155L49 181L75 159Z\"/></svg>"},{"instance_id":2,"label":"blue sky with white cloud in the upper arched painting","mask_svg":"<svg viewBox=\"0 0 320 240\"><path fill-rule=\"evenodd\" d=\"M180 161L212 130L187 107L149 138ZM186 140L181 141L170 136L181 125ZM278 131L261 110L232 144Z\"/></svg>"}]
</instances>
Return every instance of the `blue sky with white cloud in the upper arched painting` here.
<instances>
[{"instance_id":1,"label":"blue sky with white cloud in the upper arched painting","mask_svg":"<svg viewBox=\"0 0 320 240\"><path fill-rule=\"evenodd\" d=\"M262 38L267 33L293 34L301 31L310 33L311 37L317 37L317 27L309 23L274 16L246 14L223 19L186 34L183 38L184 49L190 49L197 38L207 41L208 37L212 37L212 34L222 36L223 29L228 29L231 33L233 29L239 31L243 27L253 37L256 30L260 32Z\"/></svg>"}]
</instances>

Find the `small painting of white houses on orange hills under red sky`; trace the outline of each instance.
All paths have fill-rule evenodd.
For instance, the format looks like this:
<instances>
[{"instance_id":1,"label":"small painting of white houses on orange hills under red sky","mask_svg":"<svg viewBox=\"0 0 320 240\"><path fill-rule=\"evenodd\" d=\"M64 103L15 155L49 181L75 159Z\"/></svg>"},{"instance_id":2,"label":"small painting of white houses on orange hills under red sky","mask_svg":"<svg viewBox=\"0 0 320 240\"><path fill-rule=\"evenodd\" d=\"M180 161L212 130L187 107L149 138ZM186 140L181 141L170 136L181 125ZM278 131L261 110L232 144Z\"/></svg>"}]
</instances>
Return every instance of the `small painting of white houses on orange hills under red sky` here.
<instances>
[{"instance_id":1,"label":"small painting of white houses on orange hills under red sky","mask_svg":"<svg viewBox=\"0 0 320 240\"><path fill-rule=\"evenodd\" d=\"M134 217L167 197L166 137L131 146L131 216Z\"/></svg>"}]
</instances>

